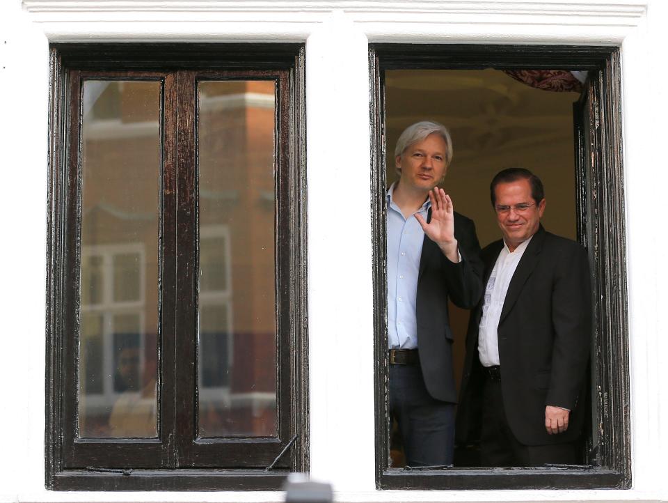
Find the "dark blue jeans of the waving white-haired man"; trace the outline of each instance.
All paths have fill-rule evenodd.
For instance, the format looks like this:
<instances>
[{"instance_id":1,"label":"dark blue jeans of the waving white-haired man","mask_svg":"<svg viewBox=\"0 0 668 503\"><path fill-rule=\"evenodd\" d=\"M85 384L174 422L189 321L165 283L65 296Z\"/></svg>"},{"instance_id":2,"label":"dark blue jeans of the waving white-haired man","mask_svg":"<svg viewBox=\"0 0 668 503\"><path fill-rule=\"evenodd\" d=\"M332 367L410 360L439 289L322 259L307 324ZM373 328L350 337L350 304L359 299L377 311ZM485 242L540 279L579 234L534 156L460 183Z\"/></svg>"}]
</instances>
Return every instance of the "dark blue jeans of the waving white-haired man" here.
<instances>
[{"instance_id":1,"label":"dark blue jeans of the waving white-haired man","mask_svg":"<svg viewBox=\"0 0 668 503\"><path fill-rule=\"evenodd\" d=\"M436 400L427 392L419 363L390 365L389 405L408 466L452 465L454 403Z\"/></svg>"}]
</instances>

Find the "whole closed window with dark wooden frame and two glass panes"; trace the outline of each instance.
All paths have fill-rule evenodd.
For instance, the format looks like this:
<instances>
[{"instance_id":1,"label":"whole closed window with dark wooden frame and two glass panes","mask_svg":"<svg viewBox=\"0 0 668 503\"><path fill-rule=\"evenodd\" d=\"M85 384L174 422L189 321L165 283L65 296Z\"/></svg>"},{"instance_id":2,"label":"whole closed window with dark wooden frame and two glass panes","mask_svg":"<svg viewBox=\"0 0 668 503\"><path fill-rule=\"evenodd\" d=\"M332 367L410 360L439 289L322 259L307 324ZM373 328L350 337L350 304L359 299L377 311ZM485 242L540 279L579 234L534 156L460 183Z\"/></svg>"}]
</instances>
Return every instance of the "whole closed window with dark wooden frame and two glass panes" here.
<instances>
[{"instance_id":1,"label":"whole closed window with dark wooden frame and two glass panes","mask_svg":"<svg viewBox=\"0 0 668 503\"><path fill-rule=\"evenodd\" d=\"M308 470L303 46L54 45L47 487Z\"/></svg>"}]
</instances>

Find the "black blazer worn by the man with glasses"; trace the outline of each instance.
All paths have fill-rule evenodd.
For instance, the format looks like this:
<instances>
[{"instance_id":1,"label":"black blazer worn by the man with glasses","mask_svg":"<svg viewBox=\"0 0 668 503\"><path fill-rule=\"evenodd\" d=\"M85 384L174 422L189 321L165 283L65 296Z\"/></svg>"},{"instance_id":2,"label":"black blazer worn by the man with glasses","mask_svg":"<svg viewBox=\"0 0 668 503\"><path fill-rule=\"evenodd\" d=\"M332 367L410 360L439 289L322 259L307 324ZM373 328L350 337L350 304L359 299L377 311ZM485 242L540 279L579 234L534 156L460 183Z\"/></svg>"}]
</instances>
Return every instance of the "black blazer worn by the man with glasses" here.
<instances>
[{"instance_id":1,"label":"black blazer worn by the man with glasses","mask_svg":"<svg viewBox=\"0 0 668 503\"><path fill-rule=\"evenodd\" d=\"M484 284L503 248L482 251ZM478 326L482 301L472 311L456 423L460 443L475 440L480 418L482 371ZM584 415L591 347L591 285L587 252L578 243L546 232L534 234L510 281L498 326L501 389L508 424L525 445L571 442ZM548 435L546 405L571 410L568 430Z\"/></svg>"}]
</instances>

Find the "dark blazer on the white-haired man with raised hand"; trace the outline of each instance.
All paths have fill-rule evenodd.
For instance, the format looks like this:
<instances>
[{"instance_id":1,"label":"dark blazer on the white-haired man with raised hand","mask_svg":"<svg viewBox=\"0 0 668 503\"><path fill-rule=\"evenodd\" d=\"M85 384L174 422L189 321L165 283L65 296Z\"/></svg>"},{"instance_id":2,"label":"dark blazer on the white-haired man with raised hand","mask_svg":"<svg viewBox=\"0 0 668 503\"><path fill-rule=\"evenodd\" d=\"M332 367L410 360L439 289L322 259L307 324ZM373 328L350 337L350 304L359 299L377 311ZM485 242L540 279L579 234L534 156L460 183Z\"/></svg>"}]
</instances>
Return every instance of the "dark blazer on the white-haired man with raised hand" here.
<instances>
[{"instance_id":1,"label":"dark blazer on the white-haired man with raised hand","mask_svg":"<svg viewBox=\"0 0 668 503\"><path fill-rule=\"evenodd\" d=\"M431 219L431 210L427 221ZM456 403L452 371L452 329L447 300L471 309L482 295L480 245L471 219L454 213L454 237L460 263L443 255L438 245L424 236L417 275L417 350L424 384L437 400Z\"/></svg>"}]
</instances>

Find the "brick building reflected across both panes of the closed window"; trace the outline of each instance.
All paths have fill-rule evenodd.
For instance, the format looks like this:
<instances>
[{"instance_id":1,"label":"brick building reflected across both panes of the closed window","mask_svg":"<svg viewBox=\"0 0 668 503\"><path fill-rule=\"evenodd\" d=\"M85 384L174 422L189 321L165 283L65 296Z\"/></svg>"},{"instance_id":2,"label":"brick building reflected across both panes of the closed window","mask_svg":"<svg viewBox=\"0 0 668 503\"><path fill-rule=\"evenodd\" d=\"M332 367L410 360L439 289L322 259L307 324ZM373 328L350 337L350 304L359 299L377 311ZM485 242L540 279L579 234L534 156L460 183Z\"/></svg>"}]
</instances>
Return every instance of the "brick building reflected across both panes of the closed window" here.
<instances>
[{"instance_id":1,"label":"brick building reflected across both panes of the closed window","mask_svg":"<svg viewBox=\"0 0 668 503\"><path fill-rule=\"evenodd\" d=\"M84 89L84 437L156 434L145 417L142 426L125 421L125 431L109 417L122 394L155 407L159 97L157 82ZM274 84L202 82L198 100L200 435L276 435ZM141 383L118 385L133 340L141 357L125 372Z\"/></svg>"}]
</instances>

